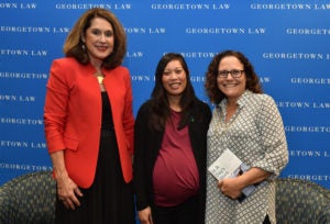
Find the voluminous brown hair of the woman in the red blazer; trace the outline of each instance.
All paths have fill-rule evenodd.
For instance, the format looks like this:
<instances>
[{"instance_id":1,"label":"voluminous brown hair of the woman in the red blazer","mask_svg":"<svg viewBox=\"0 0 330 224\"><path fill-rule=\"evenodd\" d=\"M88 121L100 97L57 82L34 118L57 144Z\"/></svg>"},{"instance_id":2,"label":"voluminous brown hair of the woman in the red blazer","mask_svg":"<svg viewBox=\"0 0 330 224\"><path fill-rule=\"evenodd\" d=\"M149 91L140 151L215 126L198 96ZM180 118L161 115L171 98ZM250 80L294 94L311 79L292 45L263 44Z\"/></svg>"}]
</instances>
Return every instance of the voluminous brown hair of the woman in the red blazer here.
<instances>
[{"instance_id":1,"label":"voluminous brown hair of the woman in the red blazer","mask_svg":"<svg viewBox=\"0 0 330 224\"><path fill-rule=\"evenodd\" d=\"M82 36L91 25L95 18L107 20L113 29L114 46L113 52L103 60L105 68L114 68L122 64L127 53L127 36L125 32L113 13L108 10L94 8L86 11L76 22L73 30L68 34L63 47L66 57L74 57L79 63L86 65L90 61L87 52L84 49Z\"/></svg>"}]
</instances>

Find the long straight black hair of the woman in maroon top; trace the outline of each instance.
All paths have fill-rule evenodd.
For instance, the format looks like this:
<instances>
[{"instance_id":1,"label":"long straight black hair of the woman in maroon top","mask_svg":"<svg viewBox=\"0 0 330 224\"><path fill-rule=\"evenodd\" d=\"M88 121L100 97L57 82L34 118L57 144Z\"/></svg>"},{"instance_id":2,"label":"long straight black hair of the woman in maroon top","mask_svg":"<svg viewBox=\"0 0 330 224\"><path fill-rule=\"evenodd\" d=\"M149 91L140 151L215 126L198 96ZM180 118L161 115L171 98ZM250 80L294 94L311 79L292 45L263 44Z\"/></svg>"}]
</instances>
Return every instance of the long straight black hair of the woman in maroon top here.
<instances>
[{"instance_id":1,"label":"long straight black hair of the woman in maroon top","mask_svg":"<svg viewBox=\"0 0 330 224\"><path fill-rule=\"evenodd\" d=\"M176 53L167 53L165 54L158 61L156 71L155 71L155 87L152 91L151 96L151 120L150 126L151 128L161 131L165 128L166 121L170 115L170 109L168 103L168 98L166 90L163 86L162 77L165 70L165 67L169 61L178 60L183 69L186 72L187 86L184 90L182 98L180 98L180 107L182 107L182 120L179 122L178 128L183 128L189 121L191 108L194 105L196 94L194 87L190 81L189 69L185 58L180 54Z\"/></svg>"}]
</instances>

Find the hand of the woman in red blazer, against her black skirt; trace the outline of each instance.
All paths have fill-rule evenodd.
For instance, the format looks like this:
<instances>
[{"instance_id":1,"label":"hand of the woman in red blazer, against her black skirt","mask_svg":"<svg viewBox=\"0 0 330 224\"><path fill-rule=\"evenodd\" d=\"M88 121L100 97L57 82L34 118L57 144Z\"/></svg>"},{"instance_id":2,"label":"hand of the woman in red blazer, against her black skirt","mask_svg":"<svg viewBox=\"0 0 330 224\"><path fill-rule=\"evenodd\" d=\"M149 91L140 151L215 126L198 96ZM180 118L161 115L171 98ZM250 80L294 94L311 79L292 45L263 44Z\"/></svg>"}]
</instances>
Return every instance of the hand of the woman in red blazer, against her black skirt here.
<instances>
[{"instance_id":1,"label":"hand of the woman in red blazer, against her black skirt","mask_svg":"<svg viewBox=\"0 0 330 224\"><path fill-rule=\"evenodd\" d=\"M66 209L75 210L80 206L80 202L77 198L82 197L82 193L78 186L68 177L57 177L57 195L63 202Z\"/></svg>"}]
</instances>

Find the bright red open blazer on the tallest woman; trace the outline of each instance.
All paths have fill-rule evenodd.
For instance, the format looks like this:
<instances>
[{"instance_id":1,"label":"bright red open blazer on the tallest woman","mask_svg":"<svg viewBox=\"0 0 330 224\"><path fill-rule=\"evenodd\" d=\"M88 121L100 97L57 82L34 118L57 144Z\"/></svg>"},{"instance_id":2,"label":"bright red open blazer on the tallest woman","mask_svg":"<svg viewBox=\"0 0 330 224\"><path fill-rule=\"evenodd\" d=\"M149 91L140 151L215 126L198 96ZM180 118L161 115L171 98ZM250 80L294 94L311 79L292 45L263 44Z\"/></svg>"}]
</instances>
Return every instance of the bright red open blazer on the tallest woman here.
<instances>
[{"instance_id":1,"label":"bright red open blazer on the tallest woman","mask_svg":"<svg viewBox=\"0 0 330 224\"><path fill-rule=\"evenodd\" d=\"M74 58L55 59L44 107L48 153L64 149L69 177L82 188L94 181L101 131L102 102L92 65ZM119 66L102 70L125 182L132 180L134 117L130 72Z\"/></svg>"}]
</instances>

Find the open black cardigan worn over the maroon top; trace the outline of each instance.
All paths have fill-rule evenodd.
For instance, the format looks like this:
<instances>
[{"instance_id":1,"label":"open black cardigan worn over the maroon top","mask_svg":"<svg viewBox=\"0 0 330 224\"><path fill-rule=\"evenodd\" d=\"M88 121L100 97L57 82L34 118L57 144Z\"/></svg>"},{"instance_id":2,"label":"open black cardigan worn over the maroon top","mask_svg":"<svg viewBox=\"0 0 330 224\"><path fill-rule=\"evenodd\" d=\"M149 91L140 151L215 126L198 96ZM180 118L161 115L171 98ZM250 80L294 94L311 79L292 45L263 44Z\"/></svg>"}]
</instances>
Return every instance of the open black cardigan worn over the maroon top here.
<instances>
[{"instance_id":1,"label":"open black cardigan worn over the maroon top","mask_svg":"<svg viewBox=\"0 0 330 224\"><path fill-rule=\"evenodd\" d=\"M136 195L136 209L141 211L146 206L153 208L153 169L161 148L164 130L152 131L148 128L151 102L143 103L138 112L134 132L134 163L133 183ZM211 120L211 110L208 104L195 100L188 123L193 152L199 171L199 213L200 223L205 217L206 200L206 155L207 132Z\"/></svg>"}]
</instances>

